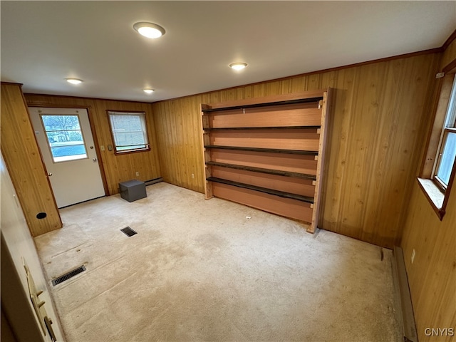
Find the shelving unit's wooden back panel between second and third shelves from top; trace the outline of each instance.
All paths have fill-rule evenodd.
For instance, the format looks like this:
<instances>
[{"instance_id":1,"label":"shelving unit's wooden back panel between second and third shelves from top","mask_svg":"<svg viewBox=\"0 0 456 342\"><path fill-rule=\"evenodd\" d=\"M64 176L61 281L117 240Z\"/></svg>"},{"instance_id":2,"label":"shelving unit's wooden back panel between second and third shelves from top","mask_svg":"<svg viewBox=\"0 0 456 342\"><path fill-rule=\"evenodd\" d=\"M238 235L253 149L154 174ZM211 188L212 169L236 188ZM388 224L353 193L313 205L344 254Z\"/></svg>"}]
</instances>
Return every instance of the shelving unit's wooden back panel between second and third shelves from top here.
<instances>
[{"instance_id":1,"label":"shelving unit's wooden back panel between second and third shelves from top","mask_svg":"<svg viewBox=\"0 0 456 342\"><path fill-rule=\"evenodd\" d=\"M316 130L252 130L214 131L210 135L210 145L281 148L284 150L318 151L320 135Z\"/></svg>"}]
</instances>

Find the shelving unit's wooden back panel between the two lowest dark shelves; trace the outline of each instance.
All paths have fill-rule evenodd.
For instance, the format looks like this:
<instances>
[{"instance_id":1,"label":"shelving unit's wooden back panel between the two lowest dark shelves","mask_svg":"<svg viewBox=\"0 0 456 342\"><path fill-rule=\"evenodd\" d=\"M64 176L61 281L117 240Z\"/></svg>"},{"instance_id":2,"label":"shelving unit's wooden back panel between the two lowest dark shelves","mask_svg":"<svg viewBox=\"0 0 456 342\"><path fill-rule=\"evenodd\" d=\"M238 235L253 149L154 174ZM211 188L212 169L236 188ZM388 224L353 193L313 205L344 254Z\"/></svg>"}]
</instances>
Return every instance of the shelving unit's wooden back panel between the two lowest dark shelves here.
<instances>
[{"instance_id":1,"label":"shelving unit's wooden back panel between the two lowest dark shelves","mask_svg":"<svg viewBox=\"0 0 456 342\"><path fill-rule=\"evenodd\" d=\"M233 170L226 167L212 166L212 177L246 183L257 187L266 187L272 190L290 192L291 194L314 197L315 186L311 180L264 175L247 170Z\"/></svg>"}]
</instances>

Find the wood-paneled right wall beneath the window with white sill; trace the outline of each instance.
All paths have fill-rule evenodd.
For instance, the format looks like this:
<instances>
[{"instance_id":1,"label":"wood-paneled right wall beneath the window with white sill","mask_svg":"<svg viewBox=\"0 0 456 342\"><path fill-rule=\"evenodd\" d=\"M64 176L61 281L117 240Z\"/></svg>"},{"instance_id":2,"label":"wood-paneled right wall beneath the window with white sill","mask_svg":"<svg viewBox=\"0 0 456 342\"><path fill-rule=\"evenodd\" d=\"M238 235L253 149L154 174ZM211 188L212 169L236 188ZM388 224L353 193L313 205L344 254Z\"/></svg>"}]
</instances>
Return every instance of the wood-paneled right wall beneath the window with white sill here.
<instances>
[{"instance_id":1,"label":"wood-paneled right wall beneath the window with white sill","mask_svg":"<svg viewBox=\"0 0 456 342\"><path fill-rule=\"evenodd\" d=\"M456 39L445 50L440 70L456 66ZM436 98L438 94L436 94ZM432 113L429 114L432 118ZM432 128L432 122L427 129ZM425 139L419 145L427 148ZM420 170L416 170L419 174ZM413 311L420 341L454 341L454 336L427 336L425 328L453 328L456 334L456 188L453 185L446 214L440 221L427 202L418 181L413 180L403 248ZM411 261L413 250L415 259Z\"/></svg>"}]
</instances>

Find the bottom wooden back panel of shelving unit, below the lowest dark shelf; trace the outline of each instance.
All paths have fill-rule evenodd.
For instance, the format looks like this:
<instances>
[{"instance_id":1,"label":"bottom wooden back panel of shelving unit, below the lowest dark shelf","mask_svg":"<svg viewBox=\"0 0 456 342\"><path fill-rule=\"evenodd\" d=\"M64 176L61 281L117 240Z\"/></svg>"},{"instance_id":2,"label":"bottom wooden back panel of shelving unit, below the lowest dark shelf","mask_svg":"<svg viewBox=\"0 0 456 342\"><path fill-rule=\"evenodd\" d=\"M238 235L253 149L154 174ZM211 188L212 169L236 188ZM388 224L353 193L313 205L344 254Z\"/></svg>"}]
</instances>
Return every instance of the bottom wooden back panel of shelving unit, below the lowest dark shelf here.
<instances>
[{"instance_id":1,"label":"bottom wooden back panel of shelving unit, below the lowest dark shelf","mask_svg":"<svg viewBox=\"0 0 456 342\"><path fill-rule=\"evenodd\" d=\"M214 183L213 192L215 197L228 199L232 202L241 203L249 207L271 212L284 217L311 222L312 212L309 203L296 199L281 198L274 195L264 194L249 189L239 189L230 185Z\"/></svg>"}]
</instances>

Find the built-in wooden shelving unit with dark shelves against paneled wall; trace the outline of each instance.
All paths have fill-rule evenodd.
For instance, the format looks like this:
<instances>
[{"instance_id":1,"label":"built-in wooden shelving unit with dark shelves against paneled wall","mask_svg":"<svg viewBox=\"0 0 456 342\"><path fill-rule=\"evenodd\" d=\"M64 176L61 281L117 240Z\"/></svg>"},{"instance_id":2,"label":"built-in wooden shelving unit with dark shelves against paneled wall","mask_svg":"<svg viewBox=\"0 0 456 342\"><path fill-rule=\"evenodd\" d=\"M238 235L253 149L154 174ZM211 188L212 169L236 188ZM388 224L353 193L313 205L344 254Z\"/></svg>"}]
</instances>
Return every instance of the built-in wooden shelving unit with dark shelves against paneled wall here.
<instances>
[{"instance_id":1,"label":"built-in wooden shelving unit with dark shelves against paneled wall","mask_svg":"<svg viewBox=\"0 0 456 342\"><path fill-rule=\"evenodd\" d=\"M330 90L202 104L206 199L318 224Z\"/></svg>"}]
</instances>

